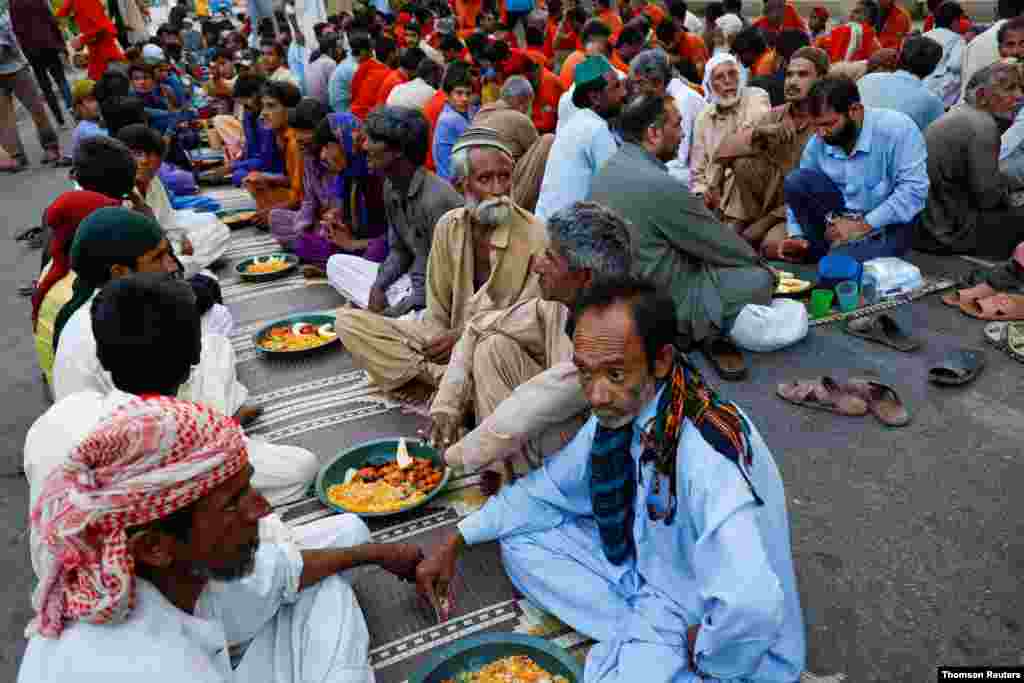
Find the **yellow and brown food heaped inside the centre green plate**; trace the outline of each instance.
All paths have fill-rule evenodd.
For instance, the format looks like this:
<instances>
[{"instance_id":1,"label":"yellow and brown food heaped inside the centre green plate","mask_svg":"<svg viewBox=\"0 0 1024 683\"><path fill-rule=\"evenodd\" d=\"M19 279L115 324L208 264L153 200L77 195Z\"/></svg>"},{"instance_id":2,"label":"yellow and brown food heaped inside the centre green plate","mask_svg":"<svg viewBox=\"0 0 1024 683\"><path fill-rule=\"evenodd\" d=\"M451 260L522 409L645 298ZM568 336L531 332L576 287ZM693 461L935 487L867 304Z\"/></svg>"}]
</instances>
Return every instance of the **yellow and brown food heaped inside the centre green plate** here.
<instances>
[{"instance_id":1,"label":"yellow and brown food heaped inside the centre green plate","mask_svg":"<svg viewBox=\"0 0 1024 683\"><path fill-rule=\"evenodd\" d=\"M391 461L377 467L350 469L344 483L327 489L331 503L350 512L397 512L427 497L444 473L429 458L413 458L409 467Z\"/></svg>"}]
</instances>

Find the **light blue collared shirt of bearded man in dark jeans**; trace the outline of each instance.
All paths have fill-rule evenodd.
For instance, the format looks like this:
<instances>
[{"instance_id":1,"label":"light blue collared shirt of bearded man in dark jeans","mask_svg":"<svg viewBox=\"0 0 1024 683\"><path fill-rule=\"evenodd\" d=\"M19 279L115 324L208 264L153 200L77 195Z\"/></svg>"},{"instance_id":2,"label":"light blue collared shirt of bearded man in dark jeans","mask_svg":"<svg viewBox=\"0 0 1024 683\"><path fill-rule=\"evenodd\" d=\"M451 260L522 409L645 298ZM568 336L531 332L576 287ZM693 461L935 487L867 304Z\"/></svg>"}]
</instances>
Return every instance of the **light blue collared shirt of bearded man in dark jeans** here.
<instances>
[{"instance_id":1,"label":"light blue collared shirt of bearded man in dark jeans","mask_svg":"<svg viewBox=\"0 0 1024 683\"><path fill-rule=\"evenodd\" d=\"M928 201L928 148L925 136L910 117L891 110L864 110L864 123L849 157L814 135L804 147L800 168L827 175L849 211L864 214L876 230L909 223ZM785 210L791 237L804 233L790 208Z\"/></svg>"}]
</instances>

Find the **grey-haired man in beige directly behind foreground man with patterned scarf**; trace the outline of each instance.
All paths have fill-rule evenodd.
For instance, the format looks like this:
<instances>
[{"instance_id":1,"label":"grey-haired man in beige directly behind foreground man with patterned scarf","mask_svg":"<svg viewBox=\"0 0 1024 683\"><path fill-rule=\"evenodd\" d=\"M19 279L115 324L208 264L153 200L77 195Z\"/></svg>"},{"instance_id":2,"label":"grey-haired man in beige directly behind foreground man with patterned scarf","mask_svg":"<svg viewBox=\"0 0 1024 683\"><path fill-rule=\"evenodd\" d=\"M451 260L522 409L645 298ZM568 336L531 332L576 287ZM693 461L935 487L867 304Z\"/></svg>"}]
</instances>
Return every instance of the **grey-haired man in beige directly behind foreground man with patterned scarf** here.
<instances>
[{"instance_id":1,"label":"grey-haired man in beige directly behind foreground man with patterned scarf","mask_svg":"<svg viewBox=\"0 0 1024 683\"><path fill-rule=\"evenodd\" d=\"M503 462L511 480L518 456L538 466L588 417L571 362L573 307L593 283L629 274L629 227L600 204L578 202L551 216L548 238L532 265L541 297L477 315L452 351L430 405L431 442L451 465ZM457 441L471 411L477 427ZM497 470L483 472L484 493L500 484Z\"/></svg>"}]
</instances>

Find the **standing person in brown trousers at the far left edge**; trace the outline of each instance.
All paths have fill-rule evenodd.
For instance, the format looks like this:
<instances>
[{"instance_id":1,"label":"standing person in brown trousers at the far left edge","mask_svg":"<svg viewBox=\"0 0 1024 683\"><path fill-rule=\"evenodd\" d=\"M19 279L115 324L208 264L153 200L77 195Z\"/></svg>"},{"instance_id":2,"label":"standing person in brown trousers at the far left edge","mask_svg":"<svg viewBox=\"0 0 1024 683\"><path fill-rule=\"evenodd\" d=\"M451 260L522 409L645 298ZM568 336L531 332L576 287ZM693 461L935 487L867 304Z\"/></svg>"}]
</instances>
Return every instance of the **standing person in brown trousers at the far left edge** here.
<instances>
[{"instance_id":1,"label":"standing person in brown trousers at the far left edge","mask_svg":"<svg viewBox=\"0 0 1024 683\"><path fill-rule=\"evenodd\" d=\"M17 134L14 97L18 98L36 123L39 143L45 153L43 163L59 163L60 145L56 131L46 113L39 86L29 70L29 62L17 45L10 26L10 13L4 10L0 14L0 146L10 155L10 159L0 160L0 171L7 173L15 173L29 165L25 146Z\"/></svg>"}]
</instances>

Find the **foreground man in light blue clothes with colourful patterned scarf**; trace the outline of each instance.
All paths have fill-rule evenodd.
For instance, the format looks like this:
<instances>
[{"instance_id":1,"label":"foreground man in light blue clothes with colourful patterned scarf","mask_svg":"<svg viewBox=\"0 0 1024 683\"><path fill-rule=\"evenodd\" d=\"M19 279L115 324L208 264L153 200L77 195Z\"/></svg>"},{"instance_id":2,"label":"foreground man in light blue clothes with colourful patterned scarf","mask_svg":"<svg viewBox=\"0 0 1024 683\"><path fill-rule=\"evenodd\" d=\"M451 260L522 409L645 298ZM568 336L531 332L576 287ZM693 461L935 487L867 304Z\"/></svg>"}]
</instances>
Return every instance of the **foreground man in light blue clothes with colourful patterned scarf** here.
<instances>
[{"instance_id":1,"label":"foreground man in light blue clothes with colourful patterned scarf","mask_svg":"<svg viewBox=\"0 0 1024 683\"><path fill-rule=\"evenodd\" d=\"M771 452L672 342L637 281L578 301L572 361L593 416L417 569L441 609L465 546L501 543L529 600L597 640L587 683L797 681L805 636ZM442 610L443 615L443 610Z\"/></svg>"}]
</instances>

